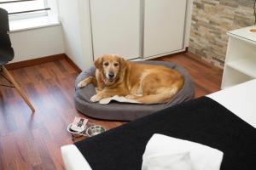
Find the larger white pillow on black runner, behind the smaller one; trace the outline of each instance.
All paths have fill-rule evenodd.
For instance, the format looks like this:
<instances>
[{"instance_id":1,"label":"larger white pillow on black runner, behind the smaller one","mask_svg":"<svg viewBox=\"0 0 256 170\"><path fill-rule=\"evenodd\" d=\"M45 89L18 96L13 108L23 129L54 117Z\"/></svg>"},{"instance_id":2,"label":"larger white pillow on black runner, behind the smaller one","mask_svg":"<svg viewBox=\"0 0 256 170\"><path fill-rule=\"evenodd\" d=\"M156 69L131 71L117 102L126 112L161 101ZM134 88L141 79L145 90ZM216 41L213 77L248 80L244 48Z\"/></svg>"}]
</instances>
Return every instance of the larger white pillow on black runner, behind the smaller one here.
<instances>
[{"instance_id":1,"label":"larger white pillow on black runner, behind the smaller one","mask_svg":"<svg viewBox=\"0 0 256 170\"><path fill-rule=\"evenodd\" d=\"M154 134L149 139L143 161L150 156L189 152L192 170L219 170L223 152L203 144ZM143 162L144 163L144 162Z\"/></svg>"}]
</instances>

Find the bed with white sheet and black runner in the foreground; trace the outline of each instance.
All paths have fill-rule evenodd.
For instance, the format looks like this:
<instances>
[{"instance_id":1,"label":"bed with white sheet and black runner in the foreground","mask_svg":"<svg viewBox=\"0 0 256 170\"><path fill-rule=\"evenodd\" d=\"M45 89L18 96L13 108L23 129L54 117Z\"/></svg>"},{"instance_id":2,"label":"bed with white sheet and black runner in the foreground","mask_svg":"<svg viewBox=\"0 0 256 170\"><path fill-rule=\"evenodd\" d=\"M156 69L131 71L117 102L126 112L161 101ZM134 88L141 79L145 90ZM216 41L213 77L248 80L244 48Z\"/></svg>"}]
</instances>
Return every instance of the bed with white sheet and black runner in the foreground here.
<instances>
[{"instance_id":1,"label":"bed with white sheet and black runner in the foreground","mask_svg":"<svg viewBox=\"0 0 256 170\"><path fill-rule=\"evenodd\" d=\"M140 157L149 136L163 133L223 150L221 169L256 169L255 96L256 80L253 80L62 146L65 167L67 170L140 169ZM167 119L163 117L167 116L170 119L165 122ZM156 126L156 122L161 126Z\"/></svg>"}]
</instances>

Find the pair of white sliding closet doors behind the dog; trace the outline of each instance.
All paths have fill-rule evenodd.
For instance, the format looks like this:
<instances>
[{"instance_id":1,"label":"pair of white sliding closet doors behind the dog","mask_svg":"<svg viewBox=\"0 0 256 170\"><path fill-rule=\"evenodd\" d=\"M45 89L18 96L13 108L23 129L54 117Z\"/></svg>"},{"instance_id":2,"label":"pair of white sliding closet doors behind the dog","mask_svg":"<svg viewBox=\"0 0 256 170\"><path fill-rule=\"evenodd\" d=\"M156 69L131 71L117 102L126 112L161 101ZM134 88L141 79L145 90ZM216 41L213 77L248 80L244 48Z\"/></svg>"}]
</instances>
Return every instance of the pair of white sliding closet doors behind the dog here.
<instances>
[{"instance_id":1,"label":"pair of white sliding closet doors behind the dog","mask_svg":"<svg viewBox=\"0 0 256 170\"><path fill-rule=\"evenodd\" d=\"M184 50L187 0L90 0L94 58L145 59Z\"/></svg>"}]
</instances>

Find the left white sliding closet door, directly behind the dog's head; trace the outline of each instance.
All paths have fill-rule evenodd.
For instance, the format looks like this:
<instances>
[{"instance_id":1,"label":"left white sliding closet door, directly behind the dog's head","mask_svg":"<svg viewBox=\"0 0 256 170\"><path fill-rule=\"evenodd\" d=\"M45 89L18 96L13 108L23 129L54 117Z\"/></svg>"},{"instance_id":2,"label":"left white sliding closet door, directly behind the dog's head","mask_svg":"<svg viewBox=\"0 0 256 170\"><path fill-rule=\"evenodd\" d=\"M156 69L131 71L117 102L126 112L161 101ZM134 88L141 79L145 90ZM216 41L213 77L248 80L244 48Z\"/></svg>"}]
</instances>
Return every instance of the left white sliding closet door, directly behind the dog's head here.
<instances>
[{"instance_id":1,"label":"left white sliding closet door, directly behind the dog's head","mask_svg":"<svg viewBox=\"0 0 256 170\"><path fill-rule=\"evenodd\" d=\"M90 0L94 57L140 57L140 0Z\"/></svg>"}]
</instances>

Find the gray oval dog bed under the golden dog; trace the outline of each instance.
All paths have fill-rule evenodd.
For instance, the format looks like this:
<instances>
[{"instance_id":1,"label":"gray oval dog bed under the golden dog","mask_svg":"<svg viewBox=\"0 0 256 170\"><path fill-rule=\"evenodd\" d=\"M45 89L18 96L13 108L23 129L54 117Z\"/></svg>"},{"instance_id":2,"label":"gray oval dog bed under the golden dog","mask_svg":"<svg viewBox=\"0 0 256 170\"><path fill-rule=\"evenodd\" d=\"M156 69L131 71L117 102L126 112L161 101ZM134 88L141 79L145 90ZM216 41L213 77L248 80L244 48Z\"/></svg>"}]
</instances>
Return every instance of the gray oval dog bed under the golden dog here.
<instances>
[{"instance_id":1,"label":"gray oval dog bed under the golden dog","mask_svg":"<svg viewBox=\"0 0 256 170\"><path fill-rule=\"evenodd\" d=\"M99 103L92 103L90 102L90 97L96 94L95 87L92 84L89 84L84 88L78 88L77 85L80 81L84 80L84 78L95 76L96 68L93 66L90 69L83 71L75 82L74 102L77 110L82 112L85 116L98 119L132 121L139 117L152 114L155 111L160 111L172 105L177 105L194 97L194 84L189 77L189 74L182 67L164 61L142 61L139 63L164 65L179 71L185 79L183 88L166 104L137 105L111 102L108 105L102 105Z\"/></svg>"}]
</instances>

